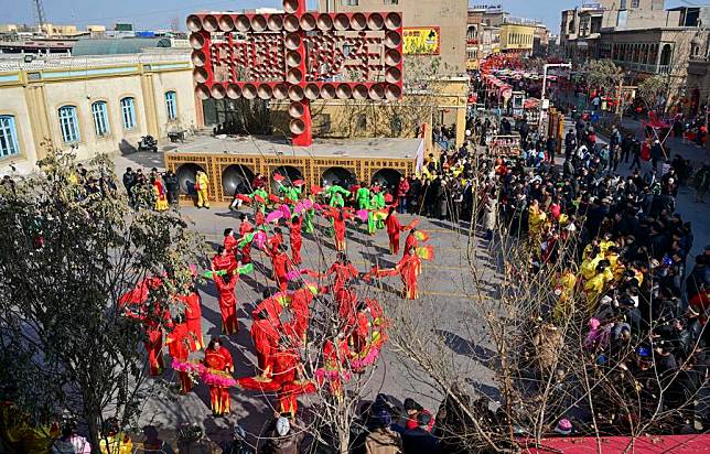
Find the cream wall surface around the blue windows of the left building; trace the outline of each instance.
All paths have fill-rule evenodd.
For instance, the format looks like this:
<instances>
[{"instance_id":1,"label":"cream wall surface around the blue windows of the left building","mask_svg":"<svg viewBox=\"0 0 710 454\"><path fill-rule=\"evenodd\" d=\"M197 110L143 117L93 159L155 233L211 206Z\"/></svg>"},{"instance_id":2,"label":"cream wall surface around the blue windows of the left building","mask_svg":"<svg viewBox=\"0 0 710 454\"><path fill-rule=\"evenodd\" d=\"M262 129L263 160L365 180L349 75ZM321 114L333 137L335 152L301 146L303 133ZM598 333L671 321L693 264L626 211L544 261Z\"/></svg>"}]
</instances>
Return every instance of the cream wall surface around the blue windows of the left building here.
<instances>
[{"instance_id":1,"label":"cream wall surface around the blue windows of the left building","mask_svg":"<svg viewBox=\"0 0 710 454\"><path fill-rule=\"evenodd\" d=\"M67 150L75 145L77 158L90 159L99 152L115 153L136 147L142 136L165 138L171 129L198 126L192 69L182 64L116 65L80 69L45 69L0 73L0 115L15 119L20 154L0 159L0 174L10 164L29 172L50 148ZM168 121L165 91L174 90L178 119ZM136 128L123 128L120 100L135 99ZM107 102L110 132L97 137L92 105ZM58 120L62 106L77 109L79 141L64 143Z\"/></svg>"}]
</instances>

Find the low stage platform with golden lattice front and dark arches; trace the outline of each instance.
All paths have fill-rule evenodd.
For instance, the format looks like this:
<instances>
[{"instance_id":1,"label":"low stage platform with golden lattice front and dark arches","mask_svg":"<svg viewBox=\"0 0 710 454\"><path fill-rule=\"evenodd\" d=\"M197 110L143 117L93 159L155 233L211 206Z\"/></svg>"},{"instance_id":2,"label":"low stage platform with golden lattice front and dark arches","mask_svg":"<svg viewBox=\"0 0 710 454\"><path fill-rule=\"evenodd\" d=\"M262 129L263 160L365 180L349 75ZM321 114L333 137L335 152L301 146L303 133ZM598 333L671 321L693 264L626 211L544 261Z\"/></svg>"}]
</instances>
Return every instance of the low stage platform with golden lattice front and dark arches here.
<instances>
[{"instance_id":1,"label":"low stage platform with golden lattice front and dark arches","mask_svg":"<svg viewBox=\"0 0 710 454\"><path fill-rule=\"evenodd\" d=\"M310 185L377 181L392 187L400 176L415 172L423 161L422 139L358 138L316 139L312 147L293 147L283 140L257 137L196 136L165 150L165 169L178 175L182 197L194 196L197 170L209 176L209 198L230 202L235 192L249 193L257 173L280 173Z\"/></svg>"}]
</instances>

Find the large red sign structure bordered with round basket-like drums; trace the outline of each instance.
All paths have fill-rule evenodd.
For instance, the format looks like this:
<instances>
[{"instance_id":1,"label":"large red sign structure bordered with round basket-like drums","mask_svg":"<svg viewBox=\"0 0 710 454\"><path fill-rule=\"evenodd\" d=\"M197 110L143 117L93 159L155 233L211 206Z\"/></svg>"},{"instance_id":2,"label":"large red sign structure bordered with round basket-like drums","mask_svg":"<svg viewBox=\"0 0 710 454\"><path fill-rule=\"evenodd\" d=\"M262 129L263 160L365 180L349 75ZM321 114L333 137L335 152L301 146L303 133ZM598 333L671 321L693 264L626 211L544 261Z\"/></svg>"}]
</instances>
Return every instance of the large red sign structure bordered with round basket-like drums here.
<instances>
[{"instance_id":1,"label":"large red sign structure bordered with round basket-like drums","mask_svg":"<svg viewBox=\"0 0 710 454\"><path fill-rule=\"evenodd\" d=\"M401 98L400 12L318 13L305 0L283 0L283 10L187 18L200 98L290 100L298 147L313 143L312 100Z\"/></svg>"}]
</instances>

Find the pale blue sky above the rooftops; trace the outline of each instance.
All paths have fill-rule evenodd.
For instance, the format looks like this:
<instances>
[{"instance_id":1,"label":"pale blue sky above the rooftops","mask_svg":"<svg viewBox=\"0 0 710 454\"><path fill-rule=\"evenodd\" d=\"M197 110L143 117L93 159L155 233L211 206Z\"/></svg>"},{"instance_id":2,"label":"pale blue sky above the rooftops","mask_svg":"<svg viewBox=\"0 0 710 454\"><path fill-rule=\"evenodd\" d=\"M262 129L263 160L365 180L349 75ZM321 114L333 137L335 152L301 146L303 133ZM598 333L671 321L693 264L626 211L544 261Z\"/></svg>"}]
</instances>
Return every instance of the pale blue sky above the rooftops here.
<instances>
[{"instance_id":1,"label":"pale blue sky above the rooftops","mask_svg":"<svg viewBox=\"0 0 710 454\"><path fill-rule=\"evenodd\" d=\"M314 7L315 0L309 0ZM337 0L336 0L337 1ZM416 1L416 0L400 0ZM31 0L0 0L0 23L33 23L35 21ZM471 4L503 4L513 15L538 19L557 31L560 11L573 8L581 0L484 0ZM667 7L682 4L681 0L667 0ZM687 3L700 4L701 1ZM257 7L280 7L280 0L44 0L49 22L106 24L132 22L139 29L168 28L175 18L184 23L184 18L192 11L240 10Z\"/></svg>"}]
</instances>

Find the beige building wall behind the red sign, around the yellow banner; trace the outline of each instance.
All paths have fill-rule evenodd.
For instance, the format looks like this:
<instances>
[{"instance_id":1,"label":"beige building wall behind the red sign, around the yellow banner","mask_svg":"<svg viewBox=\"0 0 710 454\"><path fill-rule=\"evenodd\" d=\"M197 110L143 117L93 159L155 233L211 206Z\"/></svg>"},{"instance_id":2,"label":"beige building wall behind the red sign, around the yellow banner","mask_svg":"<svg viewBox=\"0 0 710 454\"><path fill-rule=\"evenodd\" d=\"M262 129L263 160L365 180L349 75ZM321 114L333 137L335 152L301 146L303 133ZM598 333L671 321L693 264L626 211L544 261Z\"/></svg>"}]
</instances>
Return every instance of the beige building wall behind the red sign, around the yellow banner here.
<instances>
[{"instance_id":1,"label":"beige building wall behind the red sign, around the yellow banner","mask_svg":"<svg viewBox=\"0 0 710 454\"><path fill-rule=\"evenodd\" d=\"M451 65L453 73L466 69L466 0L399 0L384 4L381 0L319 0L319 12L401 11L404 26L441 28L441 60ZM417 58L407 55L406 58Z\"/></svg>"}]
</instances>

